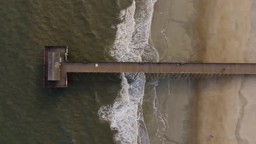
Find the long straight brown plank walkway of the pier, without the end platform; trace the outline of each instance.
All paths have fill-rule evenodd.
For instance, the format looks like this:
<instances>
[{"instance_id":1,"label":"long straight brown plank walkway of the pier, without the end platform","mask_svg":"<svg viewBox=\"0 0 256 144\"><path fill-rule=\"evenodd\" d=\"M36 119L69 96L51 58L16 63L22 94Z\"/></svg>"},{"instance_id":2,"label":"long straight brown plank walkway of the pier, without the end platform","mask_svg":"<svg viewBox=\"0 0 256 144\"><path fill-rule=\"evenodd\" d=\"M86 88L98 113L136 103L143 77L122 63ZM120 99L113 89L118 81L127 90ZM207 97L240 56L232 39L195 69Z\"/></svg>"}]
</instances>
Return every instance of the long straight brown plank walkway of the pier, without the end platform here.
<instances>
[{"instance_id":1,"label":"long straight brown plank walkway of the pier, without the end platform","mask_svg":"<svg viewBox=\"0 0 256 144\"><path fill-rule=\"evenodd\" d=\"M256 64L68 62L66 71L77 73L256 74Z\"/></svg>"}]
</instances>

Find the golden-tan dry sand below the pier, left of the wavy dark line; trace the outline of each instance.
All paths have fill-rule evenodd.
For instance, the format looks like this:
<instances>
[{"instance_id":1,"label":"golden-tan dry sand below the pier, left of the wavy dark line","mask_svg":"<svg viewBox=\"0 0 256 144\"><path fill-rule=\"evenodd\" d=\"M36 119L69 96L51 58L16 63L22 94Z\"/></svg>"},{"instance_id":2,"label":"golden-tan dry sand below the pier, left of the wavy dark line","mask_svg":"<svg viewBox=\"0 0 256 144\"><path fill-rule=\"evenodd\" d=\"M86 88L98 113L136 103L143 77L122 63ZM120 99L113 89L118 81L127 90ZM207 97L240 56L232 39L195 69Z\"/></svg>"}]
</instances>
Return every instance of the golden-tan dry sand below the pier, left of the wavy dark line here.
<instances>
[{"instance_id":1,"label":"golden-tan dry sand below the pier, left of the wavy dark line","mask_svg":"<svg viewBox=\"0 0 256 144\"><path fill-rule=\"evenodd\" d=\"M236 143L242 77L202 80L194 84L191 143Z\"/></svg>"}]
</instances>

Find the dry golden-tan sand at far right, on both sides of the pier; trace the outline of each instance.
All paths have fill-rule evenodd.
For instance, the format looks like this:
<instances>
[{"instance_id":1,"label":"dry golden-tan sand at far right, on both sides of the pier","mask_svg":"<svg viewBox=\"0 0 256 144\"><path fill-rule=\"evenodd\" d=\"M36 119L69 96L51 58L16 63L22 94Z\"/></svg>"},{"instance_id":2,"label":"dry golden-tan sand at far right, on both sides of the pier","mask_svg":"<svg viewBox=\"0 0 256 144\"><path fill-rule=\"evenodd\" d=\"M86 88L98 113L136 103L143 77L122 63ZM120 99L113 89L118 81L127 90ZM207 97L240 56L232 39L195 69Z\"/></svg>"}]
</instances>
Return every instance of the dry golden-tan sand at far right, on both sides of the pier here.
<instances>
[{"instance_id":1,"label":"dry golden-tan sand at far right, on both sides of the pier","mask_svg":"<svg viewBox=\"0 0 256 144\"><path fill-rule=\"evenodd\" d=\"M250 15L251 5L251 1L202 0L194 32L199 36L204 51L194 56L195 61L253 62L255 55L245 57L248 49L252 49L247 46L251 35L249 20L253 17ZM244 95L253 97L254 91L252 88L252 92L244 91L247 79L233 76L207 81L195 85L193 143L256 143L254 137L248 135L253 135L255 130L245 130L246 135L241 131L247 126L243 125L247 105ZM214 138L208 139L210 135Z\"/></svg>"}]
</instances>

